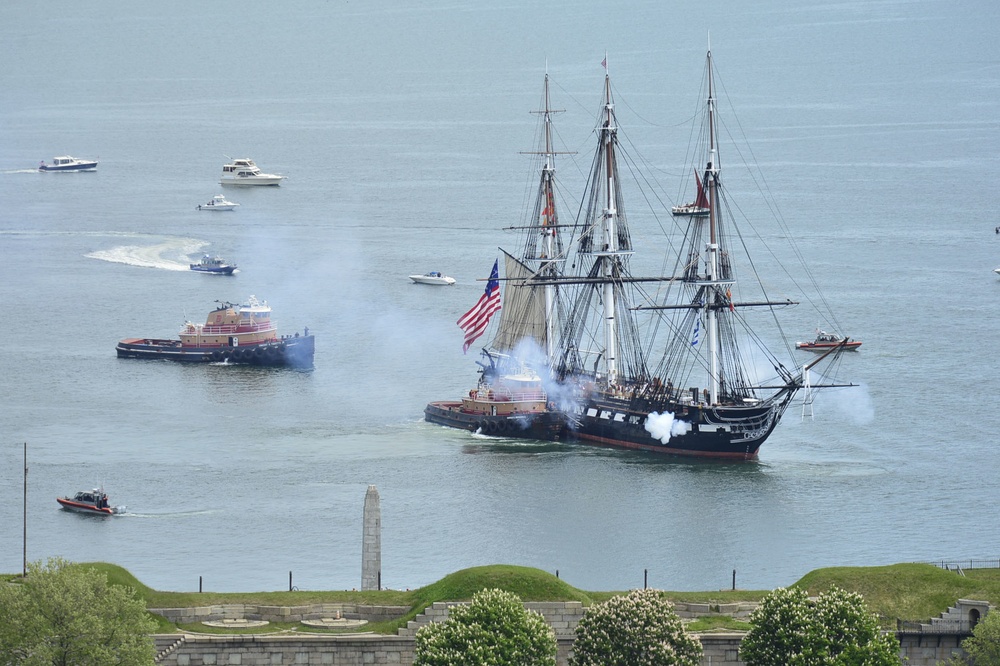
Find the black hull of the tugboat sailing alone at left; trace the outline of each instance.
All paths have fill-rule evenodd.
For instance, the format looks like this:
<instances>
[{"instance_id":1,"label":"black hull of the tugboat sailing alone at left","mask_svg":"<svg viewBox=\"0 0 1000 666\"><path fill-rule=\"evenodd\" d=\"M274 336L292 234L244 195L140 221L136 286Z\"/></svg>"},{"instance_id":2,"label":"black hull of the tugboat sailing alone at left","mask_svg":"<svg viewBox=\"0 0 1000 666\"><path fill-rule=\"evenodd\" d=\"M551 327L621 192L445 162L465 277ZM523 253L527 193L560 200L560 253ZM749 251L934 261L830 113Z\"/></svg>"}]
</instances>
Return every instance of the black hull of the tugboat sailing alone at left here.
<instances>
[{"instance_id":1,"label":"black hull of the tugboat sailing alone at left","mask_svg":"<svg viewBox=\"0 0 1000 666\"><path fill-rule=\"evenodd\" d=\"M313 367L315 337L288 337L243 347L191 348L179 340L122 340L115 347L118 358L167 360L181 363L231 363L264 367Z\"/></svg>"}]
</instances>

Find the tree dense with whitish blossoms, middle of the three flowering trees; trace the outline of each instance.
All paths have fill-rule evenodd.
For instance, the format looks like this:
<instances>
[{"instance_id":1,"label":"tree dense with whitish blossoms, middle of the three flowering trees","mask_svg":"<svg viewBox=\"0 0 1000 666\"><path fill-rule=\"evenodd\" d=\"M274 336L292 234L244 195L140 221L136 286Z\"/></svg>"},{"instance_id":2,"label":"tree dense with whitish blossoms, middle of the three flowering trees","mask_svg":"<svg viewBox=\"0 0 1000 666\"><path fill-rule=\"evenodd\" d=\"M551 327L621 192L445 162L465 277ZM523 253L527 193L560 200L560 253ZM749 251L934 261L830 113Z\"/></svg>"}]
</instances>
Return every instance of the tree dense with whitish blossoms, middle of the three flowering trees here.
<instances>
[{"instance_id":1,"label":"tree dense with whitish blossoms, middle of the three flowering trees","mask_svg":"<svg viewBox=\"0 0 1000 666\"><path fill-rule=\"evenodd\" d=\"M571 666L698 666L701 643L659 590L632 590L587 609Z\"/></svg>"}]
</instances>

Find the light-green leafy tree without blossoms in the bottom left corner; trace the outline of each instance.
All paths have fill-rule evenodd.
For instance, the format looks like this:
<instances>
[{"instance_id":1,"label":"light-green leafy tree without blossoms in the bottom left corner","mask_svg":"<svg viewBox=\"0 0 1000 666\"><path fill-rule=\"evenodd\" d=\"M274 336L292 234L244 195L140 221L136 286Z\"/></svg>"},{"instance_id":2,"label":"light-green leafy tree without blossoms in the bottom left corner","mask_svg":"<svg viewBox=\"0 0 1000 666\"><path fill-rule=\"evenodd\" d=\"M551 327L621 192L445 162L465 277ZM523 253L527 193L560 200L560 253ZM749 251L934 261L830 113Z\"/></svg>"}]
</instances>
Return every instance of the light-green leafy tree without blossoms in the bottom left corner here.
<instances>
[{"instance_id":1,"label":"light-green leafy tree without blossoms in the bottom left corner","mask_svg":"<svg viewBox=\"0 0 1000 666\"><path fill-rule=\"evenodd\" d=\"M0 586L0 666L152 664L155 629L134 590L59 558Z\"/></svg>"}]
</instances>

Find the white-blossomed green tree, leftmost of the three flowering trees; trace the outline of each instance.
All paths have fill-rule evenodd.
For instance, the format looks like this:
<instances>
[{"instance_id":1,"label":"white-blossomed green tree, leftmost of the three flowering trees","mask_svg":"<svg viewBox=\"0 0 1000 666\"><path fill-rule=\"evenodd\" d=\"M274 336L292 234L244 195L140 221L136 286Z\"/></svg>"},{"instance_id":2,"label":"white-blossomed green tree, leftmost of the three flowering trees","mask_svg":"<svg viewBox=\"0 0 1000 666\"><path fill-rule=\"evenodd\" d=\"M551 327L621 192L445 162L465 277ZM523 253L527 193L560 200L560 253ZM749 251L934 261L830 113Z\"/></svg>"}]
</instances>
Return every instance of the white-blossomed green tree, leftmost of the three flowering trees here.
<instances>
[{"instance_id":1,"label":"white-blossomed green tree, leftmost of the three flowering trees","mask_svg":"<svg viewBox=\"0 0 1000 666\"><path fill-rule=\"evenodd\" d=\"M539 613L503 590L452 606L445 622L417 631L414 666L555 666L556 639Z\"/></svg>"}]
</instances>

